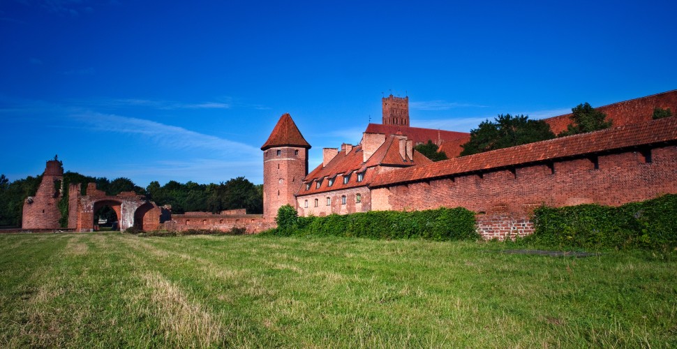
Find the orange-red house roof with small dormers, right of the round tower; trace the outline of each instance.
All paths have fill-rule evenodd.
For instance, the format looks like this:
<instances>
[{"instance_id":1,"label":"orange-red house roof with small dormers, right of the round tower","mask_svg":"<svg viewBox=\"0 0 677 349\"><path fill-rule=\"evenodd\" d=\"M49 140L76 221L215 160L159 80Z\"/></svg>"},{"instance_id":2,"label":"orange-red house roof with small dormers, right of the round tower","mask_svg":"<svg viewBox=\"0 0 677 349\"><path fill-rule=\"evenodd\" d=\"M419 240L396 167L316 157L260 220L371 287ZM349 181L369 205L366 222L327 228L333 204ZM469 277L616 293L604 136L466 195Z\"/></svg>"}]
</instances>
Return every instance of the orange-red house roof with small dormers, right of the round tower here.
<instances>
[{"instance_id":1,"label":"orange-red house roof with small dormers, right of the round tower","mask_svg":"<svg viewBox=\"0 0 677 349\"><path fill-rule=\"evenodd\" d=\"M306 189L306 183L299 189L297 195L310 195L315 193L323 193L327 191L336 191L340 189L355 188L358 186L367 186L375 175L380 166L413 166L418 164L431 163L429 158L414 150L412 152L413 158L402 158L399 152L399 144L397 144L397 136L391 135L386 138L385 142L376 149L374 154L366 163L363 161L362 145L357 145L345 154L345 151L339 151L326 166L322 164L312 170L303 181L311 183L310 188ZM357 174L364 172L364 179L357 181ZM347 184L343 184L343 175L349 175ZM334 178L334 184L328 186L328 179ZM315 181L322 181L320 188L316 188Z\"/></svg>"}]
</instances>

